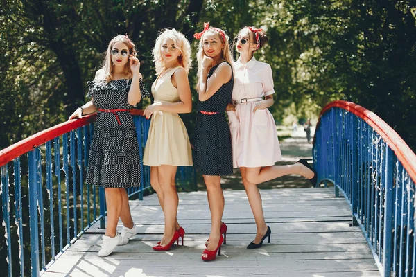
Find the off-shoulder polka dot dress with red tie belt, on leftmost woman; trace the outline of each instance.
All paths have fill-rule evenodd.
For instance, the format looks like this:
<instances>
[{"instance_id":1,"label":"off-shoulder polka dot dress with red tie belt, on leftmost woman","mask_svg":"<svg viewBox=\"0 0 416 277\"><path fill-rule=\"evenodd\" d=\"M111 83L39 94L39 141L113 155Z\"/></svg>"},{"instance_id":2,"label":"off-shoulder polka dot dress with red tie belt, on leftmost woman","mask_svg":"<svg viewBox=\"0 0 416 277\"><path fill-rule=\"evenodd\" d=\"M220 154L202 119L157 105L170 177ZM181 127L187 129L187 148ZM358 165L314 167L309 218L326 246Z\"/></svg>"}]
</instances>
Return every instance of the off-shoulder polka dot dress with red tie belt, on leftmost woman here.
<instances>
[{"instance_id":1,"label":"off-shoulder polka dot dress with red tie belt, on leftmost woman","mask_svg":"<svg viewBox=\"0 0 416 277\"><path fill-rule=\"evenodd\" d=\"M87 82L87 97L98 109L132 109L127 102L131 79ZM141 96L148 91L140 80ZM118 116L119 121L116 118ZM140 186L140 157L136 127L128 111L97 112L94 137L89 150L87 184L105 188Z\"/></svg>"}]
</instances>

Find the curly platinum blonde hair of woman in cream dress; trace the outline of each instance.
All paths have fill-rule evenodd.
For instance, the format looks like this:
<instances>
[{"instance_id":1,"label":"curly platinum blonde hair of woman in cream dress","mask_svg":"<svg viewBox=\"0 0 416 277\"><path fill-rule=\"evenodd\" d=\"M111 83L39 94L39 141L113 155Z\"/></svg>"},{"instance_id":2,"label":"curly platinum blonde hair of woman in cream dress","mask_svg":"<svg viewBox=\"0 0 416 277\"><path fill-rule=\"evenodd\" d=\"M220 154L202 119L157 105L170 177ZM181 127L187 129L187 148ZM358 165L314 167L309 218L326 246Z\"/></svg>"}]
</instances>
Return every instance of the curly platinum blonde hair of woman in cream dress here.
<instances>
[{"instance_id":1,"label":"curly platinum blonde hair of woman in cream dress","mask_svg":"<svg viewBox=\"0 0 416 277\"><path fill-rule=\"evenodd\" d=\"M155 42L155 47L152 50L153 55L153 62L155 62L156 66L156 75L162 73L165 68L164 60L162 57L162 51L160 50L164 39L172 39L173 44L175 47L179 48L180 55L177 57L177 61L179 62L180 66L182 66L187 73L189 73L189 69L191 68L191 46L188 42L188 39L180 32L175 29L165 29L159 33L159 37L157 37Z\"/></svg>"}]
</instances>

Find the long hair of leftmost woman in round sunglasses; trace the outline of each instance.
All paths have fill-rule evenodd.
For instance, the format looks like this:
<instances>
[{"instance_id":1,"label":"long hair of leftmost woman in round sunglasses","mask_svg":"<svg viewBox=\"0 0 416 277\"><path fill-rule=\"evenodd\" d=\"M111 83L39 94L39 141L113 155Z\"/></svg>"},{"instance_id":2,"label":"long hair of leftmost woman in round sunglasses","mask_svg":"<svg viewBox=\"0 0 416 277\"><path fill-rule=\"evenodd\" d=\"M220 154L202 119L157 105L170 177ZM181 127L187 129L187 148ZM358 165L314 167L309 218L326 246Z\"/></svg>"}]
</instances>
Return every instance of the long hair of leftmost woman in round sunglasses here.
<instances>
[{"instance_id":1,"label":"long hair of leftmost woman in round sunglasses","mask_svg":"<svg viewBox=\"0 0 416 277\"><path fill-rule=\"evenodd\" d=\"M114 44L116 44L116 42L121 42L125 44L125 46L127 46L128 48L129 54L134 55L134 56L137 55L135 44L132 43L132 41L128 38L127 35L116 35L115 37L113 37L112 40L110 40L110 43L108 44L107 51L105 52L105 58L104 58L103 67L102 67L105 73L104 75L105 82L110 82L113 77L112 75L113 75L114 64L111 60L111 51L112 51ZM132 69L130 69L130 61L128 61L127 64L125 64L125 67L128 73L127 77L128 79L131 79L133 76L133 73L132 73Z\"/></svg>"}]
</instances>

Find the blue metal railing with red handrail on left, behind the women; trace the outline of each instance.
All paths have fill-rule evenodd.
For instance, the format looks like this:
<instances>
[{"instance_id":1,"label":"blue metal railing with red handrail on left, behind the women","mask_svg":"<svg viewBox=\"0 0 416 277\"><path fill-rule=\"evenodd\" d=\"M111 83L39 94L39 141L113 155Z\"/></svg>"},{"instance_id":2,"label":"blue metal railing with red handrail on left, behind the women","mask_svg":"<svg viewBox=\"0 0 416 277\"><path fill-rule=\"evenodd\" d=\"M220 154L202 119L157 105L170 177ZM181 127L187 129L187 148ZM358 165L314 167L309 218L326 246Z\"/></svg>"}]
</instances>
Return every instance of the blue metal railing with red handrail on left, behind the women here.
<instances>
[{"instance_id":1,"label":"blue metal railing with red handrail on left, behind the women","mask_svg":"<svg viewBox=\"0 0 416 277\"><path fill-rule=\"evenodd\" d=\"M94 121L62 123L0 151L0 268L8 276L39 276L90 226L105 227L104 190L85 184ZM149 123L135 116L140 157ZM128 189L140 200L150 188L150 170L141 170L142 186ZM196 188L195 180L193 167L178 168L179 186Z\"/></svg>"}]
</instances>

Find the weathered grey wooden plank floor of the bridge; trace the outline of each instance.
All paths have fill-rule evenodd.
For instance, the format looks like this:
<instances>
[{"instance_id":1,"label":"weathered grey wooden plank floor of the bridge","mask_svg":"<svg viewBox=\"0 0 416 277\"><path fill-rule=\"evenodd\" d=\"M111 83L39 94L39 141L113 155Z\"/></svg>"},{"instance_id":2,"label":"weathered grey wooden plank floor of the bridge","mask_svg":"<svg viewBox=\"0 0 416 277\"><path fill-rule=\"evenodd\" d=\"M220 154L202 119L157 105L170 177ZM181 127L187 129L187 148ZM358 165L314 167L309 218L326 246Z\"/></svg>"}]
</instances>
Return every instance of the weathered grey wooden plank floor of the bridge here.
<instances>
[{"instance_id":1,"label":"weathered grey wooden plank floor of the bridge","mask_svg":"<svg viewBox=\"0 0 416 277\"><path fill-rule=\"evenodd\" d=\"M163 232L157 195L130 202L139 234L112 255L100 258L103 229L93 226L43 276L380 276L351 210L328 188L261 190L271 242L245 247L254 238L254 218L243 190L224 190L227 245L213 262L200 254L210 229L207 193L180 193L178 220L184 246L168 252L153 247ZM121 229L121 222L119 222Z\"/></svg>"}]
</instances>

